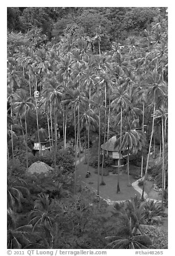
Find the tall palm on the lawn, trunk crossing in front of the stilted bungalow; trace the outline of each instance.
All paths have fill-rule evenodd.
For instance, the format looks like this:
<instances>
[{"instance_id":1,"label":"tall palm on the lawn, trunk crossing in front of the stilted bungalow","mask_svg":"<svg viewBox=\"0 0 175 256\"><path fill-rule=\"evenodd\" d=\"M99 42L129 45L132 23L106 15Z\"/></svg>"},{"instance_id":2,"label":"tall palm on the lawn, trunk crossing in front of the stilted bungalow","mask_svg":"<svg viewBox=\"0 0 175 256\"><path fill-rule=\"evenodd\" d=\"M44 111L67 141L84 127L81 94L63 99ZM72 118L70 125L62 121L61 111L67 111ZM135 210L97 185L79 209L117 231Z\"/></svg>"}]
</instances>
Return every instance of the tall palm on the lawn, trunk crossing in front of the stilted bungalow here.
<instances>
[{"instance_id":1,"label":"tall palm on the lawn, trunk crossing in front of the stilted bungalow","mask_svg":"<svg viewBox=\"0 0 175 256\"><path fill-rule=\"evenodd\" d=\"M122 87L114 90L114 99L112 101L113 111L120 110L120 147L119 147L119 164L118 164L118 184L116 193L120 193L119 174L120 174L120 155L121 155L121 136L122 136L122 109L125 109L129 104L129 95L123 91Z\"/></svg>"}]
</instances>

